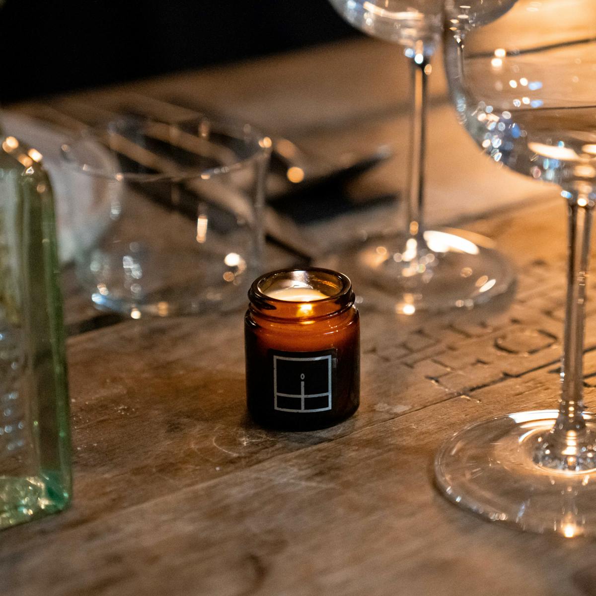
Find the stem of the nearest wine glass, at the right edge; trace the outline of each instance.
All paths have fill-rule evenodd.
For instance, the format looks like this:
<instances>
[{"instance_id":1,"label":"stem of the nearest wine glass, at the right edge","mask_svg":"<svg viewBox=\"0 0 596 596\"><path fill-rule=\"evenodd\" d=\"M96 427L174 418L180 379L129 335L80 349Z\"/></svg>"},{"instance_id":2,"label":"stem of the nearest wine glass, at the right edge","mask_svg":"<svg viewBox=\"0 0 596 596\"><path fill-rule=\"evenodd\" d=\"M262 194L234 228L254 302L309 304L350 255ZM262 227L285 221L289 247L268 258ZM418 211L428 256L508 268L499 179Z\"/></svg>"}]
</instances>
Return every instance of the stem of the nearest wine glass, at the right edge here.
<instances>
[{"instance_id":1,"label":"stem of the nearest wine glass, at the right edge","mask_svg":"<svg viewBox=\"0 0 596 596\"><path fill-rule=\"evenodd\" d=\"M557 420L557 428L563 432L585 428L582 417L583 331L592 224L592 207L585 196L574 194L569 200L567 210L569 212L567 302L561 365L561 403Z\"/></svg>"}]
</instances>

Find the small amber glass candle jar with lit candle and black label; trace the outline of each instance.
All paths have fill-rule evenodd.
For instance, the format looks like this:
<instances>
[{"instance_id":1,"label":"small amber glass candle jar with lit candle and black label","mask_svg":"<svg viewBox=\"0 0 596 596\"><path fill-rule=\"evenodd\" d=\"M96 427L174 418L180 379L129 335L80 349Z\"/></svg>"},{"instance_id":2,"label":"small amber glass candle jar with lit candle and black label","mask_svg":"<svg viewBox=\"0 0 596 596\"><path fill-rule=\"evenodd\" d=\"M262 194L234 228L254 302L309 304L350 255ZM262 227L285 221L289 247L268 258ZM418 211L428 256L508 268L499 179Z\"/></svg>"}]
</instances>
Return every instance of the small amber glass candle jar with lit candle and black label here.
<instances>
[{"instance_id":1,"label":"small amber glass candle jar with lit candle and black label","mask_svg":"<svg viewBox=\"0 0 596 596\"><path fill-rule=\"evenodd\" d=\"M246 395L259 424L332 426L360 401L360 325L350 280L328 269L284 269L249 291Z\"/></svg>"}]
</instances>

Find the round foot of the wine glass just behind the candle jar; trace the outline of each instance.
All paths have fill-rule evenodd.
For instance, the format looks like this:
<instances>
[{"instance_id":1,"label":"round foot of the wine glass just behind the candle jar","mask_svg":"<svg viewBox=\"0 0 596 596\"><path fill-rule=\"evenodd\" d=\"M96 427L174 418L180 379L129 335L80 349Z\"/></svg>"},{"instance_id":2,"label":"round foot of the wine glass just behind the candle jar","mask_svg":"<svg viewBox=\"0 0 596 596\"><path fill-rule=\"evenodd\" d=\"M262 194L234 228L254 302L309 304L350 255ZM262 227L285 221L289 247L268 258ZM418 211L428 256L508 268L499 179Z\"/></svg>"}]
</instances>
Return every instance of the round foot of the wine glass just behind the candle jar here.
<instances>
[{"instance_id":1,"label":"round foot of the wine glass just behind the candle jar","mask_svg":"<svg viewBox=\"0 0 596 596\"><path fill-rule=\"evenodd\" d=\"M411 237L373 238L316 265L350 277L362 302L404 315L473 308L515 281L513 265L479 234L427 230L424 241L420 248Z\"/></svg>"}]
</instances>

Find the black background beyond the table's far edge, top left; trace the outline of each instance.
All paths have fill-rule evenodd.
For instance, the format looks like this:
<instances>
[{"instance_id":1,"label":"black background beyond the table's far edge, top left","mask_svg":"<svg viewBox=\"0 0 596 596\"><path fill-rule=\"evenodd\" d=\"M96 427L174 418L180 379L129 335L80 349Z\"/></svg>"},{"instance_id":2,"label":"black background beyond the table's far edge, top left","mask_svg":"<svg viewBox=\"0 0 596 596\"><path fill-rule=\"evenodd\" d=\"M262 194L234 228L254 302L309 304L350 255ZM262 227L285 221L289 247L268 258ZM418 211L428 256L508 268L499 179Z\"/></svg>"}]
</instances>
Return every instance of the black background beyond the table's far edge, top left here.
<instances>
[{"instance_id":1,"label":"black background beyond the table's far edge, top left","mask_svg":"<svg viewBox=\"0 0 596 596\"><path fill-rule=\"evenodd\" d=\"M1 0L0 0L1 2ZM5 0L0 101L356 35L327 0Z\"/></svg>"}]
</instances>

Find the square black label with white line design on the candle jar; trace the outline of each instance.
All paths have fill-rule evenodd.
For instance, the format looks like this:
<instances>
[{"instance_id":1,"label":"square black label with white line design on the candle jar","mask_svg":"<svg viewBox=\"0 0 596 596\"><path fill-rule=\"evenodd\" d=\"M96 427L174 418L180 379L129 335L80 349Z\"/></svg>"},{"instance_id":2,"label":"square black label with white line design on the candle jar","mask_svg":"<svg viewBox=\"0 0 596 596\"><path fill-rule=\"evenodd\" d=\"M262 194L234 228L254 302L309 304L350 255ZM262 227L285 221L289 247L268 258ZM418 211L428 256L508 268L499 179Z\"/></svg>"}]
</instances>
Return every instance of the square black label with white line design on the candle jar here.
<instances>
[{"instance_id":1,"label":"square black label with white line design on the candle jar","mask_svg":"<svg viewBox=\"0 0 596 596\"><path fill-rule=\"evenodd\" d=\"M297 414L330 410L335 352L272 352L274 409Z\"/></svg>"}]
</instances>

